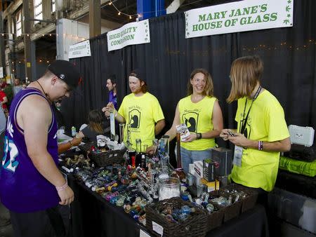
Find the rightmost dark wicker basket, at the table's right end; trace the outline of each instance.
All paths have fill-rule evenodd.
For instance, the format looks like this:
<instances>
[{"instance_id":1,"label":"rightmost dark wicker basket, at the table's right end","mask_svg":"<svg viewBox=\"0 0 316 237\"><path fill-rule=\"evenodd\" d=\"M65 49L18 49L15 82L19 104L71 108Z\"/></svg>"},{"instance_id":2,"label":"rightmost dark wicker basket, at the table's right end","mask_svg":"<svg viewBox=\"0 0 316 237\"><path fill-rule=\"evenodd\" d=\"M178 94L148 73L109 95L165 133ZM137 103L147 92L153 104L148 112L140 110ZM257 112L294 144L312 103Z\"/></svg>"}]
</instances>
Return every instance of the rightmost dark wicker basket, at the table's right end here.
<instances>
[{"instance_id":1,"label":"rightmost dark wicker basket, at the table's right end","mask_svg":"<svg viewBox=\"0 0 316 237\"><path fill-rule=\"evenodd\" d=\"M227 188L228 190L235 189L237 191L243 191L246 194L246 198L242 198L241 200L242 212L246 212L246 210L254 208L254 206L256 205L258 199L258 192L254 189L250 189L239 184L230 184Z\"/></svg>"}]
</instances>

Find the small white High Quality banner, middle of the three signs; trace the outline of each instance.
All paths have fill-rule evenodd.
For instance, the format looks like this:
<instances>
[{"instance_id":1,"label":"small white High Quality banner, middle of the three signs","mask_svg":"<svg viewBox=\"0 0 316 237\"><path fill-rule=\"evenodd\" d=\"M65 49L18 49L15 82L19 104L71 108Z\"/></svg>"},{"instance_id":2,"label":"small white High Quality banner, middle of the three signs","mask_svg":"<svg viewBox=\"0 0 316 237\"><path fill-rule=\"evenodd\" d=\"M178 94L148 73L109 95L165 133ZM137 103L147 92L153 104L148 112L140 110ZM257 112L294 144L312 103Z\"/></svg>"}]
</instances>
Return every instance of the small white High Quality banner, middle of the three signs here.
<instances>
[{"instance_id":1,"label":"small white High Quality banner, middle of the three signs","mask_svg":"<svg viewBox=\"0 0 316 237\"><path fill-rule=\"evenodd\" d=\"M107 32L107 50L112 51L133 44L150 43L149 21L131 22Z\"/></svg>"}]
</instances>

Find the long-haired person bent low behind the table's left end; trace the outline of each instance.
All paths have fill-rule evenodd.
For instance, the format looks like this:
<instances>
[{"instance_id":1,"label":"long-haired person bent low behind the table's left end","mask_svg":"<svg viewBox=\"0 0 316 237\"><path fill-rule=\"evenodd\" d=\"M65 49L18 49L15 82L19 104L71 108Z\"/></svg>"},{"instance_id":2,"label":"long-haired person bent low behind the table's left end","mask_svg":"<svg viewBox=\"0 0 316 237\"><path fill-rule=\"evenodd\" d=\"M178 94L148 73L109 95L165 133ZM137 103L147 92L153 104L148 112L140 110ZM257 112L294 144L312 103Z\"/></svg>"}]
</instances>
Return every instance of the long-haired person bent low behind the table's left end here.
<instances>
[{"instance_id":1,"label":"long-haired person bent low behind the table's left end","mask_svg":"<svg viewBox=\"0 0 316 237\"><path fill-rule=\"evenodd\" d=\"M104 116L102 111L94 109L88 114L88 126L79 131L76 135L78 138L87 137L88 140L96 142L97 135L110 137L110 128L105 128Z\"/></svg>"}]
</instances>

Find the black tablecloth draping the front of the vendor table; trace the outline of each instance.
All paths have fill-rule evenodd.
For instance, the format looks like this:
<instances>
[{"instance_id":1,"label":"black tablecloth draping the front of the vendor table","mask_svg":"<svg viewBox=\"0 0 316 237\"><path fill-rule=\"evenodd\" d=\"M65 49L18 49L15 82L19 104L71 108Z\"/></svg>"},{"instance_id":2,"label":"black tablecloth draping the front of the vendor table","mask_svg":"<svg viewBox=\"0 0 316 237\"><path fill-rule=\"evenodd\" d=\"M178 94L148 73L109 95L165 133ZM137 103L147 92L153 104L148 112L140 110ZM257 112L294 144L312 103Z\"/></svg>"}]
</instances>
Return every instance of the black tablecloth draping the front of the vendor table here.
<instances>
[{"instance_id":1,"label":"black tablecloth draping the front of the vendor table","mask_svg":"<svg viewBox=\"0 0 316 237\"><path fill-rule=\"evenodd\" d=\"M68 175L68 184L74 191L70 236L140 236L140 229L146 231L145 227L134 221L123 208L108 203L99 194L77 182L72 175ZM238 218L209 231L206 236L268 236L265 209L256 205Z\"/></svg>"}]
</instances>

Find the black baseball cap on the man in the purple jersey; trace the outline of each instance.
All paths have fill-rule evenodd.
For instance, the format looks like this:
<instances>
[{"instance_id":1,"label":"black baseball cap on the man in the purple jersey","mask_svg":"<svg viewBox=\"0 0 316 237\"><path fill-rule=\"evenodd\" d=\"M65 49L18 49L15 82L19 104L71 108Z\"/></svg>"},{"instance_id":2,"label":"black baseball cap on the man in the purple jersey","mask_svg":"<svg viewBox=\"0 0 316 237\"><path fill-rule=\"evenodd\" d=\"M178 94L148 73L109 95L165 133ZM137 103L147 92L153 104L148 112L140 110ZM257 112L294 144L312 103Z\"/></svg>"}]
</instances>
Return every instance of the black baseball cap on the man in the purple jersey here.
<instances>
[{"instance_id":1,"label":"black baseball cap on the man in the purple jersey","mask_svg":"<svg viewBox=\"0 0 316 237\"><path fill-rule=\"evenodd\" d=\"M48 70L65 81L72 90L77 88L81 81L79 70L72 62L55 60L48 66Z\"/></svg>"}]
</instances>

